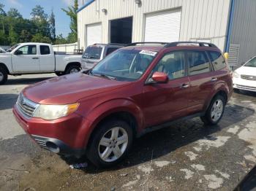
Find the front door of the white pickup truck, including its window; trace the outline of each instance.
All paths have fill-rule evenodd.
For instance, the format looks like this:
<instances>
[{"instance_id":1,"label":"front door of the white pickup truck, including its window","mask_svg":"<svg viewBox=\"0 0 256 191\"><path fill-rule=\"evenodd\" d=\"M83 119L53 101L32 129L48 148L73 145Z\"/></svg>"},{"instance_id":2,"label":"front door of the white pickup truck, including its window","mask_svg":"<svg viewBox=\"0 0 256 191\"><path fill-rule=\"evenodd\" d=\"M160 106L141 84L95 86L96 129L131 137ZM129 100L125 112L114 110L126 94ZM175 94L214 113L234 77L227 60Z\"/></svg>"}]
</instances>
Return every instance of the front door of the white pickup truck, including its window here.
<instances>
[{"instance_id":1,"label":"front door of the white pickup truck, including its window","mask_svg":"<svg viewBox=\"0 0 256 191\"><path fill-rule=\"evenodd\" d=\"M37 45L24 45L12 54L12 69L19 73L39 71L39 55Z\"/></svg>"}]
</instances>

